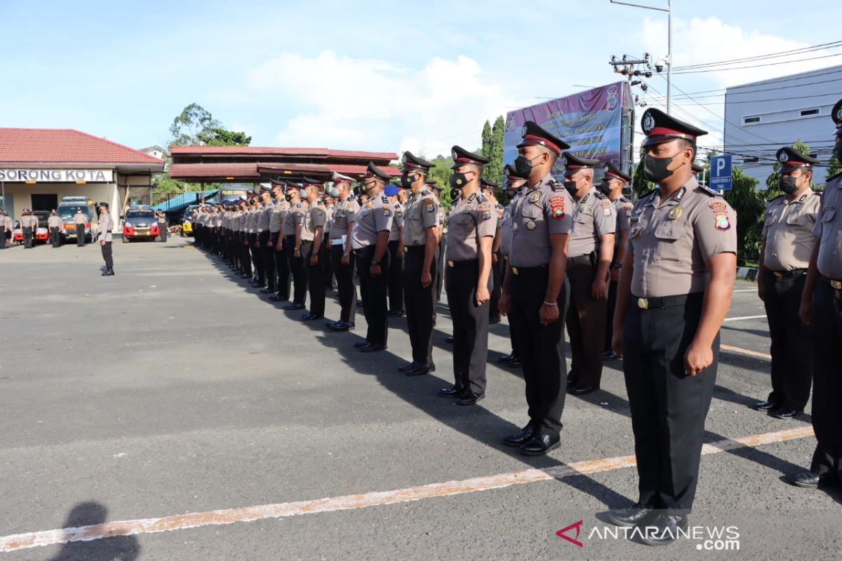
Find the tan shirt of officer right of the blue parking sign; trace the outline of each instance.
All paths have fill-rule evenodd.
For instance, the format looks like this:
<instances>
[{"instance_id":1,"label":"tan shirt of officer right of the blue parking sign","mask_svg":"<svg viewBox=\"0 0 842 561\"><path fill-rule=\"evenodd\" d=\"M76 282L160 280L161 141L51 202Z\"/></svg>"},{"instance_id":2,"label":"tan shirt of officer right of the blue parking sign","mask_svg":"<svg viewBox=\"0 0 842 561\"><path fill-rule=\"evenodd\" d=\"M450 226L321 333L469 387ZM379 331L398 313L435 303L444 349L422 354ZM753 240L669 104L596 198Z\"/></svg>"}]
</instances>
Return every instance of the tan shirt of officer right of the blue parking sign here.
<instances>
[{"instance_id":1,"label":"tan shirt of officer right of the blue parking sign","mask_svg":"<svg viewBox=\"0 0 842 561\"><path fill-rule=\"evenodd\" d=\"M813 228L821 205L821 196L809 189L793 201L781 195L766 204L763 222L766 239L763 264L766 268L772 271L807 268L816 245Z\"/></svg>"}]
</instances>

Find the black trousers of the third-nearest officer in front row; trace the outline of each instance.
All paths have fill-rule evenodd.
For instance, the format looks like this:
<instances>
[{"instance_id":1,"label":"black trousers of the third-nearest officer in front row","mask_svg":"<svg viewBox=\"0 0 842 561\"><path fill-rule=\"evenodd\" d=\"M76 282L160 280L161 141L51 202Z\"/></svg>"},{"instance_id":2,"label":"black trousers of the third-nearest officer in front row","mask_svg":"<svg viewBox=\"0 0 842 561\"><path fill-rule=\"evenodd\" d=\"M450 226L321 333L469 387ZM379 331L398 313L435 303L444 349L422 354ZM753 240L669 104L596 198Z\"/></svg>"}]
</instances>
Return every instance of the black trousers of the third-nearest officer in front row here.
<instances>
[{"instance_id":1,"label":"black trousers of the third-nearest officer in front row","mask_svg":"<svg viewBox=\"0 0 842 561\"><path fill-rule=\"evenodd\" d=\"M477 306L479 260L448 262L445 289L450 319L453 320L454 387L485 394L485 365L488 362L488 300ZM491 289L488 275L488 289Z\"/></svg>"}]
</instances>

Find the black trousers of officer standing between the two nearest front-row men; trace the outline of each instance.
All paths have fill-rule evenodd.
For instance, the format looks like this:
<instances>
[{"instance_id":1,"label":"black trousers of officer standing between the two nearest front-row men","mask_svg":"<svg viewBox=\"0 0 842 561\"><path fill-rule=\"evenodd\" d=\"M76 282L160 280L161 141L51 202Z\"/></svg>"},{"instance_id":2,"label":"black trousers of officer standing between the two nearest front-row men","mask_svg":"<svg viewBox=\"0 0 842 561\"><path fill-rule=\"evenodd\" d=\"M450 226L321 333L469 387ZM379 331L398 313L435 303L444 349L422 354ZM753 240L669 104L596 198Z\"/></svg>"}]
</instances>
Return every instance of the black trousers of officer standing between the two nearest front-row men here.
<instances>
[{"instance_id":1,"label":"black trousers of officer standing between the two nearest front-row men","mask_svg":"<svg viewBox=\"0 0 842 561\"><path fill-rule=\"evenodd\" d=\"M604 299L590 294L596 267L568 265L570 309L567 315L570 336L570 377L573 383L600 387L602 353L605 352Z\"/></svg>"}]
</instances>

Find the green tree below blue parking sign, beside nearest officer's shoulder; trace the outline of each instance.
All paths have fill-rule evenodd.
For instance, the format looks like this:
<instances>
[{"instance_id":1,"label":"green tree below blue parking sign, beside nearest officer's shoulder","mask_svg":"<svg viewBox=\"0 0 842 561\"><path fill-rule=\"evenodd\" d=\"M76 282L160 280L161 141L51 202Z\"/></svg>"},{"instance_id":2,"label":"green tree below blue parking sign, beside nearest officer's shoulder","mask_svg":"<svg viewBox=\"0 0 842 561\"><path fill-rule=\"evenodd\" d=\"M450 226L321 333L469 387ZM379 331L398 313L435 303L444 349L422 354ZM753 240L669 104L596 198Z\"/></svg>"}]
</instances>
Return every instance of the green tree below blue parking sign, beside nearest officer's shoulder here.
<instances>
[{"instance_id":1,"label":"green tree below blue parking sign, beside nearest officer's shoulder","mask_svg":"<svg viewBox=\"0 0 842 561\"><path fill-rule=\"evenodd\" d=\"M733 167L731 177L733 188L725 192L725 200L737 213L737 262L745 266L759 259L760 242L763 241L763 214L766 209L765 193L757 190L759 181L738 166Z\"/></svg>"}]
</instances>

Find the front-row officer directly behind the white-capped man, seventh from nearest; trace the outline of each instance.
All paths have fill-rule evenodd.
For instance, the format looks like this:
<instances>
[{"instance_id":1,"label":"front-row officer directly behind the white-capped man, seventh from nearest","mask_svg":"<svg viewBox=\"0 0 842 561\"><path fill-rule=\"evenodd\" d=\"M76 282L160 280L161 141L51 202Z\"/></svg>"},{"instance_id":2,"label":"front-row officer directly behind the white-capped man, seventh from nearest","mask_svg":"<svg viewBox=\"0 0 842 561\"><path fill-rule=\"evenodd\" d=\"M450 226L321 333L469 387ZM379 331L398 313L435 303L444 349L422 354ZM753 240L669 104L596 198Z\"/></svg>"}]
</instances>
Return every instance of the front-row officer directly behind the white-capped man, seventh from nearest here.
<instances>
[{"instance_id":1,"label":"front-row officer directly behind the white-capped man, seventh from nearest","mask_svg":"<svg viewBox=\"0 0 842 561\"><path fill-rule=\"evenodd\" d=\"M310 312L302 315L301 320L312 321L324 317L324 275L322 263L322 241L324 225L327 220L324 204L319 197L320 184L313 180L304 180L304 195L307 208L301 227L301 259L306 264L307 288L310 291Z\"/></svg>"}]
</instances>

